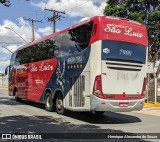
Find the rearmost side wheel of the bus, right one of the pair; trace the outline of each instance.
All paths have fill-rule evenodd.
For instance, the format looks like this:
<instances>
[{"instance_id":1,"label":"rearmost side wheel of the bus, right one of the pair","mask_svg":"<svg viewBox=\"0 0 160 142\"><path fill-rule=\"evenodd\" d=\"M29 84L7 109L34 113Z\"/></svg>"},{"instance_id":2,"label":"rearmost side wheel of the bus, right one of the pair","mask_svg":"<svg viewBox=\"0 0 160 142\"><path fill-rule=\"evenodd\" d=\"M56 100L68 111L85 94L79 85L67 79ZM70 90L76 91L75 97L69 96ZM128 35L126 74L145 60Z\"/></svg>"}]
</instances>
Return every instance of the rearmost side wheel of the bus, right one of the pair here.
<instances>
[{"instance_id":1,"label":"rearmost side wheel of the bus, right one of the pair","mask_svg":"<svg viewBox=\"0 0 160 142\"><path fill-rule=\"evenodd\" d=\"M56 110L58 114L65 114L65 109L63 106L63 97L59 94L56 98Z\"/></svg>"}]
</instances>

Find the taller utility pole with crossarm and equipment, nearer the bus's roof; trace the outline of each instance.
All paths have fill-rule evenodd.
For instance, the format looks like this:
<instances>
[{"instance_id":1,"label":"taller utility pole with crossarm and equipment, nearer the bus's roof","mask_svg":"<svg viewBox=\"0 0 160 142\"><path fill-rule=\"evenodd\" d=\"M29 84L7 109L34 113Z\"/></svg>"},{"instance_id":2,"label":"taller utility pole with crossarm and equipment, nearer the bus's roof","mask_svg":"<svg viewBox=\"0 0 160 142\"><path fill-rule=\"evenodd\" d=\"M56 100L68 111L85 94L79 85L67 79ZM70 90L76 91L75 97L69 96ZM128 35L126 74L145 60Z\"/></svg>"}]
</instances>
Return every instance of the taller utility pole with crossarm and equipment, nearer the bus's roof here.
<instances>
[{"instance_id":1,"label":"taller utility pole with crossarm and equipment, nearer the bus's roof","mask_svg":"<svg viewBox=\"0 0 160 142\"><path fill-rule=\"evenodd\" d=\"M60 14L65 14L65 12L61 12L61 11L57 11L57 10L53 10L53 9L44 9L47 11L51 11L53 13L53 16L48 18L48 21L52 21L52 25L53 25L53 33L55 33L56 31L56 20L60 20L61 17L63 17Z\"/></svg>"}]
</instances>

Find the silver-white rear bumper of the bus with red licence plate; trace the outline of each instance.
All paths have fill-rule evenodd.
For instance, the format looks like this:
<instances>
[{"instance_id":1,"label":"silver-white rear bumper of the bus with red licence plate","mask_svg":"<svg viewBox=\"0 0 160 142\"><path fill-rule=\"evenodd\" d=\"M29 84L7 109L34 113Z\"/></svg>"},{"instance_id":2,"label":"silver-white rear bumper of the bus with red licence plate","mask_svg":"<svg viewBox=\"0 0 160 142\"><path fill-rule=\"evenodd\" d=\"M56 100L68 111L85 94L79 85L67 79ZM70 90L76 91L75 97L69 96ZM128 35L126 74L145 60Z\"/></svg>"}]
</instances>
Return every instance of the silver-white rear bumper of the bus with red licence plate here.
<instances>
[{"instance_id":1,"label":"silver-white rear bumper of the bus with red licence plate","mask_svg":"<svg viewBox=\"0 0 160 142\"><path fill-rule=\"evenodd\" d=\"M94 95L90 97L91 111L130 112L142 110L144 106L144 98L139 100L105 100Z\"/></svg>"}]
</instances>

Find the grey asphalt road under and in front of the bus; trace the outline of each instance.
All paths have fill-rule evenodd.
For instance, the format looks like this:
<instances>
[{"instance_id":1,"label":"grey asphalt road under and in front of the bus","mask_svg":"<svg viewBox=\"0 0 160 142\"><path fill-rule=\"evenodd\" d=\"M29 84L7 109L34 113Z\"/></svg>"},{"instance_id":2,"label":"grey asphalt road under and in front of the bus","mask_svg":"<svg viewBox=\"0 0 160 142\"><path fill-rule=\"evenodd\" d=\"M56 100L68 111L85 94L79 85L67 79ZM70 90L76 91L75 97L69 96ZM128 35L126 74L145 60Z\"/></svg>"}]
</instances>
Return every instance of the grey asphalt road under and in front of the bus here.
<instances>
[{"instance_id":1,"label":"grey asphalt road under and in front of the bus","mask_svg":"<svg viewBox=\"0 0 160 142\"><path fill-rule=\"evenodd\" d=\"M67 115L62 116L56 112L45 111L42 104L28 101L15 102L13 97L8 96L7 91L0 90L0 133L52 133L52 135L59 133L56 137L60 139L55 138L52 141L75 141L75 139L92 142L160 141L160 139L100 139L105 138L108 133L111 135L160 133L160 111L145 109L127 113L106 112L103 115L68 112ZM68 138L67 134L75 139L61 139ZM88 137L90 139L87 139ZM42 141L51 141L51 139Z\"/></svg>"}]
</instances>

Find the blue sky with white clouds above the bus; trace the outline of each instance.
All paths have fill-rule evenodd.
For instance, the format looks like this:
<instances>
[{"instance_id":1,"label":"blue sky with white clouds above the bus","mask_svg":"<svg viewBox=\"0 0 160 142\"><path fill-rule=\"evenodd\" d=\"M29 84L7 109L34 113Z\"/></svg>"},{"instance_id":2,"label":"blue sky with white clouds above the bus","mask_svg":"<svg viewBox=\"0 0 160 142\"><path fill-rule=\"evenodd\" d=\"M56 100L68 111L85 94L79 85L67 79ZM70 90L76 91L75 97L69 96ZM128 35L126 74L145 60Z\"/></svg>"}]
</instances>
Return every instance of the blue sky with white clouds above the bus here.
<instances>
[{"instance_id":1,"label":"blue sky with white clouds above the bus","mask_svg":"<svg viewBox=\"0 0 160 142\"><path fill-rule=\"evenodd\" d=\"M56 22L56 31L60 31L88 18L103 15L106 1L10 0L10 7L0 4L0 73L4 72L6 66L9 65L11 52L26 42L32 41L32 24L24 19L42 20L42 22L35 22L35 39L39 39L53 31L52 23L48 21L52 12L44 10L45 8L65 11L63 18Z\"/></svg>"}]
</instances>

